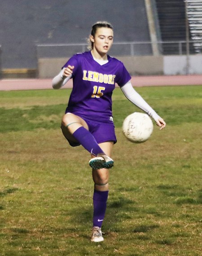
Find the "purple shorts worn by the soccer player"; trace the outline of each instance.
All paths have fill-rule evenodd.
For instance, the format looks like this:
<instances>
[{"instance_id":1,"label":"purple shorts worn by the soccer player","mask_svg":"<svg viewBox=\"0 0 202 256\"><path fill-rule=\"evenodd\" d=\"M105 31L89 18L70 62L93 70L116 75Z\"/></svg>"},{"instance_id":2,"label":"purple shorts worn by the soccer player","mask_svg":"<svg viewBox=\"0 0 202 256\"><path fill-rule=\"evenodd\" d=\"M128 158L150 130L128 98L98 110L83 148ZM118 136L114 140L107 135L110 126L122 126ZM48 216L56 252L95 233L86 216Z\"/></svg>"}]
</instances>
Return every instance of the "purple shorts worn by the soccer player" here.
<instances>
[{"instance_id":1,"label":"purple shorts worn by the soccer player","mask_svg":"<svg viewBox=\"0 0 202 256\"><path fill-rule=\"evenodd\" d=\"M83 117L82 117L82 119L87 123L89 132L94 136L94 138L96 139L98 144L107 142L107 141L113 141L114 144L117 142L114 125L111 125L111 124L109 125L107 123L106 124L105 123L102 123L102 124L95 123L95 122L93 122L87 118L83 118ZM63 129L64 129L64 127L61 127L62 133L65 136ZM66 127L65 127L65 129L66 129ZM76 146L80 145L78 142L70 141L69 139L67 139L67 140L68 140L70 146L72 146L72 147L76 147Z\"/></svg>"}]
</instances>

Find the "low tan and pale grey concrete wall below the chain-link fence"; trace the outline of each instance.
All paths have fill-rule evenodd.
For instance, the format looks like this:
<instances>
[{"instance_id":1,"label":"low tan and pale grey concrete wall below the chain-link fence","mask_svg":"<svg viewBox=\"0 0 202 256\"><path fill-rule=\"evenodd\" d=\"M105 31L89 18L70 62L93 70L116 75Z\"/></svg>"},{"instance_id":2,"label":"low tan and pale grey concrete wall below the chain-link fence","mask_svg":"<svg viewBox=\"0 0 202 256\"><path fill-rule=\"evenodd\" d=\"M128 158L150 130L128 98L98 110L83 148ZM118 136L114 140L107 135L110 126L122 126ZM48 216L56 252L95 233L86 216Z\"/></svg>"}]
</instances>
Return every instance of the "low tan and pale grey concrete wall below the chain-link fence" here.
<instances>
[{"instance_id":1,"label":"low tan and pale grey concrete wall below the chain-link fence","mask_svg":"<svg viewBox=\"0 0 202 256\"><path fill-rule=\"evenodd\" d=\"M202 55L173 56L116 56L131 75L186 75L202 74ZM39 58L39 78L53 78L68 58Z\"/></svg>"}]
</instances>

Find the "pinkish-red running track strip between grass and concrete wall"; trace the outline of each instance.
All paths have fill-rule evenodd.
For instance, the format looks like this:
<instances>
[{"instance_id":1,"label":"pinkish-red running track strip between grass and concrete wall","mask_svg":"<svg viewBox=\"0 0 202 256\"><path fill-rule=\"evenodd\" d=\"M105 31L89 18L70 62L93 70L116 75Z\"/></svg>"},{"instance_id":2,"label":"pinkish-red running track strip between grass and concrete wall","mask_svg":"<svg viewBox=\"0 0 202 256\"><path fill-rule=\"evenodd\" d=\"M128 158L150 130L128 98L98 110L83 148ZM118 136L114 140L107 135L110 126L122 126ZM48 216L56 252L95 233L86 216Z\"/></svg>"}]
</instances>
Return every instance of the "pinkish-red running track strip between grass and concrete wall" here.
<instances>
[{"instance_id":1,"label":"pinkish-red running track strip between grass and concrete wall","mask_svg":"<svg viewBox=\"0 0 202 256\"><path fill-rule=\"evenodd\" d=\"M166 85L202 85L202 75L188 76L132 76L134 87ZM70 80L63 88L72 88ZM52 79L4 79L0 91L52 89Z\"/></svg>"}]
</instances>

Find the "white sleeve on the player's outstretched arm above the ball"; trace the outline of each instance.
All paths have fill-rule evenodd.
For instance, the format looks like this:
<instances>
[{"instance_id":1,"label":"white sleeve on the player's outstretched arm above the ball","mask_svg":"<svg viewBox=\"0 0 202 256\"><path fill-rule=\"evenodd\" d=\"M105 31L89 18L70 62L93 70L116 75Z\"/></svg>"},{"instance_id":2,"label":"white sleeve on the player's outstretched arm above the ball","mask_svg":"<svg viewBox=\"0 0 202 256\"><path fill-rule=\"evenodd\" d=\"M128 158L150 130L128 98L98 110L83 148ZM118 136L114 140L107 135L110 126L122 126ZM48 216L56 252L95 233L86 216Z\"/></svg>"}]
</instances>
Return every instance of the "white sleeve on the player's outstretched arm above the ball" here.
<instances>
[{"instance_id":1,"label":"white sleeve on the player's outstretched arm above the ball","mask_svg":"<svg viewBox=\"0 0 202 256\"><path fill-rule=\"evenodd\" d=\"M123 91L123 94L126 96L126 98L129 99L133 104L146 112L150 117L154 118L155 121L158 120L158 114L154 111L153 108L149 106L148 103L145 102L141 95L136 92L130 81L123 85L121 90Z\"/></svg>"}]
</instances>

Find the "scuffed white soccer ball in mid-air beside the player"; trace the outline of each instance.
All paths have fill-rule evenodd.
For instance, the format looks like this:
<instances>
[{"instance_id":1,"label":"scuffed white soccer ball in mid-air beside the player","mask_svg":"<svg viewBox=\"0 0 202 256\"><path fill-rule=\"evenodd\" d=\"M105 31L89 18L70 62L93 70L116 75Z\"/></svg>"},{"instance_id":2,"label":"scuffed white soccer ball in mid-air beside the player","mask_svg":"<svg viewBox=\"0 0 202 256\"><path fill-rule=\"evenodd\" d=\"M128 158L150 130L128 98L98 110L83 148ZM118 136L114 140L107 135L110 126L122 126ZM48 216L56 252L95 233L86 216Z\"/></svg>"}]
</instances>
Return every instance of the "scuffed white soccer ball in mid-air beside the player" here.
<instances>
[{"instance_id":1,"label":"scuffed white soccer ball in mid-air beside the player","mask_svg":"<svg viewBox=\"0 0 202 256\"><path fill-rule=\"evenodd\" d=\"M149 139L153 129L153 122L145 113L134 112L123 121L123 134L135 143L142 143Z\"/></svg>"}]
</instances>

